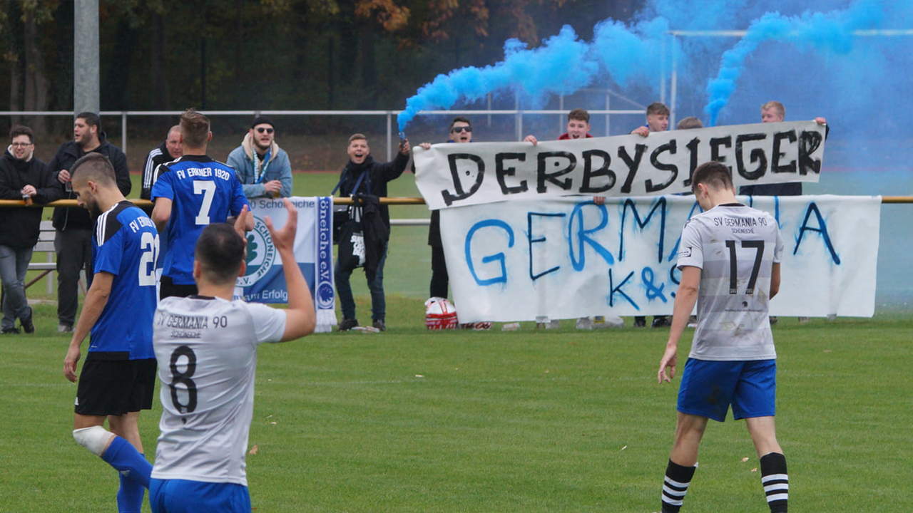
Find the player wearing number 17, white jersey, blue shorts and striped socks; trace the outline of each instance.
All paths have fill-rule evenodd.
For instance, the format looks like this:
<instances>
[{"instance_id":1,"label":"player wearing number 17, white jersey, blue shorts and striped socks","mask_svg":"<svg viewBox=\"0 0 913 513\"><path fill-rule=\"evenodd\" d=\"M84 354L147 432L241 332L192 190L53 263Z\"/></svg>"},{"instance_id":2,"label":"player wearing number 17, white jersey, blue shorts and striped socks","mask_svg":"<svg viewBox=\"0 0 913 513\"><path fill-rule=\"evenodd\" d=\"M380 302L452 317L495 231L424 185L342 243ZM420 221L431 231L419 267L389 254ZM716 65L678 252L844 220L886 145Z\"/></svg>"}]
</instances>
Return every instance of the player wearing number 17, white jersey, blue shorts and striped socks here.
<instances>
[{"instance_id":1,"label":"player wearing number 17, white jersey, blue shorts and striped socks","mask_svg":"<svg viewBox=\"0 0 913 513\"><path fill-rule=\"evenodd\" d=\"M729 168L698 166L691 190L704 210L682 229L681 269L672 328L657 379L675 376L678 340L698 303L698 329L678 390L675 443L663 482L663 513L678 513L698 465L708 419L745 419L761 459L761 484L771 513L786 513L789 477L777 443L777 352L770 300L780 290L783 240L772 215L736 201Z\"/></svg>"}]
</instances>

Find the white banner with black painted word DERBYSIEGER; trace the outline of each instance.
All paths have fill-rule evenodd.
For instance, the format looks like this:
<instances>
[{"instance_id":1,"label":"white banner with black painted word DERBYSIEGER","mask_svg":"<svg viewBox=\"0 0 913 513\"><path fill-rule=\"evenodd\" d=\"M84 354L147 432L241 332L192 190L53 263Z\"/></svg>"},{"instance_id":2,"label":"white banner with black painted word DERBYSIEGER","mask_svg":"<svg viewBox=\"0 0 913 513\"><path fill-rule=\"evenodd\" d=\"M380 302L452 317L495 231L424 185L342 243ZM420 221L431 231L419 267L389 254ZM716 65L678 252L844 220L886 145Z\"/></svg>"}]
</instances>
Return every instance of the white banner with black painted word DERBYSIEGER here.
<instances>
[{"instance_id":1,"label":"white banner with black painted word DERBYSIEGER","mask_svg":"<svg viewBox=\"0 0 913 513\"><path fill-rule=\"evenodd\" d=\"M736 188L817 182L824 126L758 123L572 141L473 142L415 147L415 183L431 210L566 195L691 191L698 164L723 162Z\"/></svg>"}]
</instances>

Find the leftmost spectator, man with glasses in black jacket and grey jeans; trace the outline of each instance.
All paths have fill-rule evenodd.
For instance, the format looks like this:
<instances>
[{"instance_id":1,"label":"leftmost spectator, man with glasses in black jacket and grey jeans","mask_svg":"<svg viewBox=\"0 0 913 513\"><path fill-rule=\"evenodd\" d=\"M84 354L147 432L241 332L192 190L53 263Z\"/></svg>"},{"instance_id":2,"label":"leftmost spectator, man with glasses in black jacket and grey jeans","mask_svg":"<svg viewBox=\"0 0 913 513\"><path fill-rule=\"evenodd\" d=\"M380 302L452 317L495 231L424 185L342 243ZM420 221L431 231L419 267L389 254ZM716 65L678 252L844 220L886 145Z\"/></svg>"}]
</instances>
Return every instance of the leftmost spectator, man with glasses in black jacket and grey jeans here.
<instances>
[{"instance_id":1,"label":"leftmost spectator, man with glasses in black jacket and grey jeans","mask_svg":"<svg viewBox=\"0 0 913 513\"><path fill-rule=\"evenodd\" d=\"M54 182L47 163L34 158L32 130L15 126L12 142L0 158L0 199L45 204L60 198L63 191ZM3 281L3 322L5 334L18 333L16 318L26 333L35 331L32 309L26 300L26 271L32 248L38 242L43 209L22 206L4 210L0 223L0 279Z\"/></svg>"}]
</instances>

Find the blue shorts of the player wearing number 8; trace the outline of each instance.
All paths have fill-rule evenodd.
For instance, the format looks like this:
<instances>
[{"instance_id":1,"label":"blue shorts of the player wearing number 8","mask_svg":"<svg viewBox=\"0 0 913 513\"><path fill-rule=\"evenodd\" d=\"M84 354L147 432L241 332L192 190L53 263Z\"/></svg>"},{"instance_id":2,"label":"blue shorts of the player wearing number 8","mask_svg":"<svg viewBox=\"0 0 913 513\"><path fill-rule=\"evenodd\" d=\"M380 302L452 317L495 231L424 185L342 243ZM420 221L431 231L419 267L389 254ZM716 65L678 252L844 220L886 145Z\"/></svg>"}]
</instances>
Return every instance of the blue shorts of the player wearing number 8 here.
<instances>
[{"instance_id":1,"label":"blue shorts of the player wearing number 8","mask_svg":"<svg viewBox=\"0 0 913 513\"><path fill-rule=\"evenodd\" d=\"M149 505L152 513L250 513L250 494L235 483L152 478Z\"/></svg>"}]
</instances>

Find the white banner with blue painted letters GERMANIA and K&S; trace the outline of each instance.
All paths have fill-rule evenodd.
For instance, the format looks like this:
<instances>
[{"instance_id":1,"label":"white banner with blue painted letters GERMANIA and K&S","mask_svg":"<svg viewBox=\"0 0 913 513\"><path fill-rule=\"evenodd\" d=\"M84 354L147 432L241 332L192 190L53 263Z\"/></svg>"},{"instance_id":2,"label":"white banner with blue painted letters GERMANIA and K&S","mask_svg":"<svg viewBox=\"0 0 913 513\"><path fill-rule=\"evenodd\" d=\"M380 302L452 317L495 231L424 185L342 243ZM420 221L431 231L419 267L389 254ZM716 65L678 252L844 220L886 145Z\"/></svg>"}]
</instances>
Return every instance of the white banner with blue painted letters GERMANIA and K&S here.
<instances>
[{"instance_id":1,"label":"white banner with blue painted letters GERMANIA and K&S","mask_svg":"<svg viewBox=\"0 0 913 513\"><path fill-rule=\"evenodd\" d=\"M752 198L740 196L750 204ZM753 197L785 248L771 315L871 317L880 196ZM460 322L669 315L694 196L500 202L441 211Z\"/></svg>"}]
</instances>

